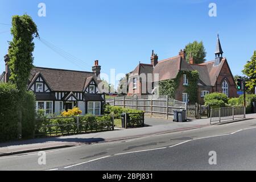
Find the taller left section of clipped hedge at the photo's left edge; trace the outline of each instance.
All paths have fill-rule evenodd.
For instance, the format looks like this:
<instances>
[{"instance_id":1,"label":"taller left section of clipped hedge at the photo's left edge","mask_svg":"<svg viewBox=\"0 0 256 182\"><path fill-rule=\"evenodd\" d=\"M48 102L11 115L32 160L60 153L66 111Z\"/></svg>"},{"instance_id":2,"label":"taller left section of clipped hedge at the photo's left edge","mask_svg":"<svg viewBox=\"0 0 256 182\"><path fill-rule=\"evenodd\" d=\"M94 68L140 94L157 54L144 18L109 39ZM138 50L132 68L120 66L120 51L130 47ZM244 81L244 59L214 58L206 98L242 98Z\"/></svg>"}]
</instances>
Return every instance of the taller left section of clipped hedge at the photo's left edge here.
<instances>
[{"instance_id":1,"label":"taller left section of clipped hedge at the photo's left edge","mask_svg":"<svg viewBox=\"0 0 256 182\"><path fill-rule=\"evenodd\" d=\"M0 142L18 135L18 90L9 83L0 84Z\"/></svg>"}]
</instances>

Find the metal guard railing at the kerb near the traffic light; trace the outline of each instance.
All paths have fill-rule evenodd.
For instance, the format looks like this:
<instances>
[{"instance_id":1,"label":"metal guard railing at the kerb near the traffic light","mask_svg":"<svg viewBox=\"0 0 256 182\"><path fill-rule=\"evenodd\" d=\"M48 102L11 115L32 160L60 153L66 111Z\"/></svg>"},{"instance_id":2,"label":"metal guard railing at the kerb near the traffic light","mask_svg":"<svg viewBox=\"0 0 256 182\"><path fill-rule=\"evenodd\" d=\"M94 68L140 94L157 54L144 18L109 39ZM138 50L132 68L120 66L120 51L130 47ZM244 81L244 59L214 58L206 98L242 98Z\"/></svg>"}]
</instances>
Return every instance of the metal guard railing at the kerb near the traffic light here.
<instances>
[{"instance_id":1,"label":"metal guard railing at the kerb near the traffic light","mask_svg":"<svg viewBox=\"0 0 256 182\"><path fill-rule=\"evenodd\" d=\"M210 124L228 119L246 118L246 107L223 107L210 110Z\"/></svg>"}]
</instances>

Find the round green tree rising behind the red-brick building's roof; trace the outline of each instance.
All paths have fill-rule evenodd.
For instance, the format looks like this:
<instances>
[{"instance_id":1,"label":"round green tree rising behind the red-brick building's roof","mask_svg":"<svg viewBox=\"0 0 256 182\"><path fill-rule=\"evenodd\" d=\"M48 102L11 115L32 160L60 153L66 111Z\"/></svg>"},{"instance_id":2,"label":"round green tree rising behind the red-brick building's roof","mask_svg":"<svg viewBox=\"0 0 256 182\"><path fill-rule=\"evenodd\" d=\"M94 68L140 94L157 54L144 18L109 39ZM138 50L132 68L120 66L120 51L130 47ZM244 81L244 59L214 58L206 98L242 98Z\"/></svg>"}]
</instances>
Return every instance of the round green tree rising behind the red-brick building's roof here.
<instances>
[{"instance_id":1,"label":"round green tree rising behind the red-brick building's roof","mask_svg":"<svg viewBox=\"0 0 256 182\"><path fill-rule=\"evenodd\" d=\"M205 62L205 57L207 52L205 51L203 42L194 41L193 43L187 44L185 46L186 51L186 61L189 63L189 58L192 56L195 64L200 64Z\"/></svg>"}]
</instances>

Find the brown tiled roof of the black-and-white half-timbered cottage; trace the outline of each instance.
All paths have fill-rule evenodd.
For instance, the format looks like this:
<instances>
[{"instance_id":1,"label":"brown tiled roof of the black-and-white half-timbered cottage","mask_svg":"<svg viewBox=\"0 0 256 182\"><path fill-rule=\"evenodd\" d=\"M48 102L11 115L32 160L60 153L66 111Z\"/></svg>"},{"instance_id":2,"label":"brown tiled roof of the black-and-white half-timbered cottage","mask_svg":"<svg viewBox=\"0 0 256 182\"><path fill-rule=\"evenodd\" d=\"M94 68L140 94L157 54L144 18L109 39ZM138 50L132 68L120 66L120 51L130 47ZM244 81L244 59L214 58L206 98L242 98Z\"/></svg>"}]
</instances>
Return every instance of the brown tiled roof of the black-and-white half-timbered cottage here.
<instances>
[{"instance_id":1,"label":"brown tiled roof of the black-and-white half-timbered cottage","mask_svg":"<svg viewBox=\"0 0 256 182\"><path fill-rule=\"evenodd\" d=\"M30 82L38 73L44 77L47 84L55 91L82 92L86 79L95 77L93 72L35 67L32 68ZM97 82L97 79L95 81Z\"/></svg>"}]
</instances>

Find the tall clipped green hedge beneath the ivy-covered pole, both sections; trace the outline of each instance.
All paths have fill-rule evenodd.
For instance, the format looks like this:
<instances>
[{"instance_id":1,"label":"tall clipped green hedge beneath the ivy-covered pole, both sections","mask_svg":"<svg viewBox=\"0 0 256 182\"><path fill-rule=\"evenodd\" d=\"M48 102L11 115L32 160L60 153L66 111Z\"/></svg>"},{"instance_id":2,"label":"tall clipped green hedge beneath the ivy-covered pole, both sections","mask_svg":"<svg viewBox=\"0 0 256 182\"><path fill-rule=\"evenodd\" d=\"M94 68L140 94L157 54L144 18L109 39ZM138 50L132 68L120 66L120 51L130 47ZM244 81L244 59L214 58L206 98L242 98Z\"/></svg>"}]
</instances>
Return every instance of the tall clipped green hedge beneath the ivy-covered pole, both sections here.
<instances>
[{"instance_id":1,"label":"tall clipped green hedge beneath the ivy-covered pole, both sections","mask_svg":"<svg viewBox=\"0 0 256 182\"><path fill-rule=\"evenodd\" d=\"M20 97L24 100L22 108L22 138L32 138L35 122L35 96L25 92L20 96L16 86L10 83L0 84L0 142L17 139L18 110Z\"/></svg>"}]
</instances>

